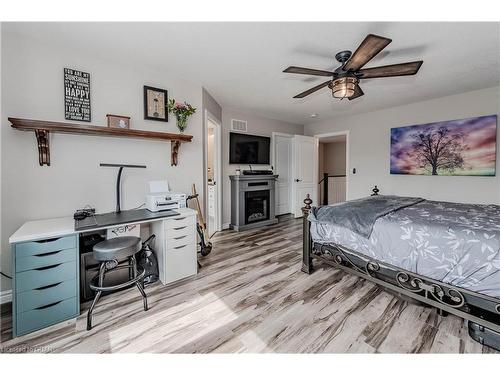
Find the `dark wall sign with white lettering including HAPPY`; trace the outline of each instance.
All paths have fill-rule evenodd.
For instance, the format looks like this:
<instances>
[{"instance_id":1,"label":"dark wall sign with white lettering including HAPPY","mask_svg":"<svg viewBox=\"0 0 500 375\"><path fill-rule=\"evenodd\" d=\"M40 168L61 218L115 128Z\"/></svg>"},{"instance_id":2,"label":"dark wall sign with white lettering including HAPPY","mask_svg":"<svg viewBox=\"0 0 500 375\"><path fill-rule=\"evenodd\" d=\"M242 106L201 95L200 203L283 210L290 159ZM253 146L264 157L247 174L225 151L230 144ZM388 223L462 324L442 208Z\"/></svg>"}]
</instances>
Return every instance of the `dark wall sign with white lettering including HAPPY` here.
<instances>
[{"instance_id":1,"label":"dark wall sign with white lettering including HAPPY","mask_svg":"<svg viewBox=\"0 0 500 375\"><path fill-rule=\"evenodd\" d=\"M90 122L90 74L64 68L64 118Z\"/></svg>"}]
</instances>

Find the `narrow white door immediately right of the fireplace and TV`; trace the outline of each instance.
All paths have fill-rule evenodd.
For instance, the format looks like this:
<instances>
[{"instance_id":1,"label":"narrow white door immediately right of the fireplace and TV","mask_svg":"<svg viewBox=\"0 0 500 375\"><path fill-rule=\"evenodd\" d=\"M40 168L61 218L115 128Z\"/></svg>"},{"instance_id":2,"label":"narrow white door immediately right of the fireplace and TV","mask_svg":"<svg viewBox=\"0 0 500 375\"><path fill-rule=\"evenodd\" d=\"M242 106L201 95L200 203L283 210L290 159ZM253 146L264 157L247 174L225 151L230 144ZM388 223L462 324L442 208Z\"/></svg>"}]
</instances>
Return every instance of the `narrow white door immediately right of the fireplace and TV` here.
<instances>
[{"instance_id":1,"label":"narrow white door immediately right of the fireplace and TV","mask_svg":"<svg viewBox=\"0 0 500 375\"><path fill-rule=\"evenodd\" d=\"M292 141L293 135L273 133L276 181L276 215L292 212Z\"/></svg>"}]
</instances>

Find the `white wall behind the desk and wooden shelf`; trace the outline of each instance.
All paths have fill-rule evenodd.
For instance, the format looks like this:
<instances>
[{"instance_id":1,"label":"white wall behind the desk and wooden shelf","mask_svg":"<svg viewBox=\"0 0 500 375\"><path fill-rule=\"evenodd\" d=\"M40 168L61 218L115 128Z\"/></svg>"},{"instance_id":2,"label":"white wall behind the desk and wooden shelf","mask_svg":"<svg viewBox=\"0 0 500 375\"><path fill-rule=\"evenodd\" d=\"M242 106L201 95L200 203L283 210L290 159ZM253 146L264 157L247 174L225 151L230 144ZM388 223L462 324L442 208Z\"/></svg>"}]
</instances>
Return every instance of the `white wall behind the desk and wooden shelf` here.
<instances>
[{"instance_id":1,"label":"white wall behind the desk and wooden shelf","mask_svg":"<svg viewBox=\"0 0 500 375\"><path fill-rule=\"evenodd\" d=\"M130 51L133 53L133 51ZM202 87L163 70L127 64L126 56L96 56L78 46L43 45L3 30L2 33L2 238L1 266L10 273L8 237L27 220L72 215L90 204L98 212L115 208L114 168L99 163L145 164L126 170L122 188L124 209L144 202L146 182L170 181L176 191L191 191L194 182L203 194ZM178 132L168 123L143 119L143 85L168 90L170 98L198 108L186 130L193 142L182 144L179 165L170 166L170 143L140 139L55 134L51 136L51 166L38 165L32 132L12 129L7 117L64 120L63 68L91 74L92 124L105 125L106 114L131 116L131 127ZM1 289L9 289L2 280Z\"/></svg>"}]
</instances>

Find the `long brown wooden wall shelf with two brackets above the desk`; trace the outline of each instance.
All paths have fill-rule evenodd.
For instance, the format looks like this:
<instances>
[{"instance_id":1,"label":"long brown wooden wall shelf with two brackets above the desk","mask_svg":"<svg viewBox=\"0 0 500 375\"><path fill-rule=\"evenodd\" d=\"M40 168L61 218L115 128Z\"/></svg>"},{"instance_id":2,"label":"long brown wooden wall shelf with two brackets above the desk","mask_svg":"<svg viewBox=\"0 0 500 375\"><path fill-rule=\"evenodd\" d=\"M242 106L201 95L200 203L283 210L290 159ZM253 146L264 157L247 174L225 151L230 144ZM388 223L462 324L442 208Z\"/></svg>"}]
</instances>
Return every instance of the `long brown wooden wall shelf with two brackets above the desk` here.
<instances>
[{"instance_id":1,"label":"long brown wooden wall shelf with two brackets above the desk","mask_svg":"<svg viewBox=\"0 0 500 375\"><path fill-rule=\"evenodd\" d=\"M38 159L40 165L50 165L50 133L83 134L110 137L146 138L157 141L170 141L171 163L177 165L179 147L181 143L191 142L192 135L173 134L163 132L150 132L145 130L118 129L107 126L94 126L83 124L68 124L63 122L27 120L21 118L8 118L11 126L17 130L33 131L38 143Z\"/></svg>"}]
</instances>

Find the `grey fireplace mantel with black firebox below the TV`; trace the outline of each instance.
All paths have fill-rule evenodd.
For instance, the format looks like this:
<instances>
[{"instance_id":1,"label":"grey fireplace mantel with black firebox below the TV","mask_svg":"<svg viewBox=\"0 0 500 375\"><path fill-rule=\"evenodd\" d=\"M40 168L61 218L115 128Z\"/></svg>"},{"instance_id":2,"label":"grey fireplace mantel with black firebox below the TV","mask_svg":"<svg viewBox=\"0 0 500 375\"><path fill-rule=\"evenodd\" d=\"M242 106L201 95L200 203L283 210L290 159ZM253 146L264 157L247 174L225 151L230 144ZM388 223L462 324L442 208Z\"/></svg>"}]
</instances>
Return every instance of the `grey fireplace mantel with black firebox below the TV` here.
<instances>
[{"instance_id":1,"label":"grey fireplace mantel with black firebox below the TV","mask_svg":"<svg viewBox=\"0 0 500 375\"><path fill-rule=\"evenodd\" d=\"M229 226L231 229L242 231L278 222L274 213L274 185L278 175L233 175L229 178L231 179L231 224ZM258 219L258 215L253 213L252 220L249 221L247 200L255 199L257 192L262 192L260 199L263 204L263 216L262 219ZM268 197L267 201L266 197Z\"/></svg>"}]
</instances>

